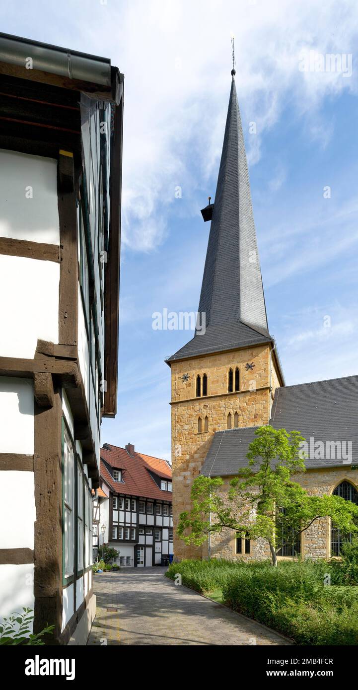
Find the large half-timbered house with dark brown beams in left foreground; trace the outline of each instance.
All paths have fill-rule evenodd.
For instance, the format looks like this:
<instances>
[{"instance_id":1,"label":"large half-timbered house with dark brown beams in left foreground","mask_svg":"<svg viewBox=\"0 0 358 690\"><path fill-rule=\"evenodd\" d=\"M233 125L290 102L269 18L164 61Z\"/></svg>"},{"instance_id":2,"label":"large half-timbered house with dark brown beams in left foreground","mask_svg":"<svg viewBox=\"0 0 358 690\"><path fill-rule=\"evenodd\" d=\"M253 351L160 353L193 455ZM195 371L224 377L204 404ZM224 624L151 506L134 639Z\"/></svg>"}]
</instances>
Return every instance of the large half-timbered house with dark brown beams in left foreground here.
<instances>
[{"instance_id":1,"label":"large half-timbered house with dark brown beams in left foreground","mask_svg":"<svg viewBox=\"0 0 358 690\"><path fill-rule=\"evenodd\" d=\"M0 90L0 616L31 607L50 644L86 644L117 401L123 75L0 34Z\"/></svg>"}]
</instances>

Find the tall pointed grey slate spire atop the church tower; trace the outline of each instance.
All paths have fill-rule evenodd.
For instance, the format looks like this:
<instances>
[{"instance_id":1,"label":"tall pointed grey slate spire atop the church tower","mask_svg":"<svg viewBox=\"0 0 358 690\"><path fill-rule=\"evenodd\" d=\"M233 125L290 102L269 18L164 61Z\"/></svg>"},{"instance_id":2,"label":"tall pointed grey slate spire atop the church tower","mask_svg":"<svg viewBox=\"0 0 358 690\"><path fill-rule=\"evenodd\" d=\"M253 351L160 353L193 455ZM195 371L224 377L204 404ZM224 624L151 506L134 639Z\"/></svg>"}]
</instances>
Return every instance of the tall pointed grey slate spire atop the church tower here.
<instances>
[{"instance_id":1,"label":"tall pointed grey slate spire atop the church tower","mask_svg":"<svg viewBox=\"0 0 358 690\"><path fill-rule=\"evenodd\" d=\"M205 333L197 328L168 362L271 340L234 77L199 302Z\"/></svg>"}]
</instances>

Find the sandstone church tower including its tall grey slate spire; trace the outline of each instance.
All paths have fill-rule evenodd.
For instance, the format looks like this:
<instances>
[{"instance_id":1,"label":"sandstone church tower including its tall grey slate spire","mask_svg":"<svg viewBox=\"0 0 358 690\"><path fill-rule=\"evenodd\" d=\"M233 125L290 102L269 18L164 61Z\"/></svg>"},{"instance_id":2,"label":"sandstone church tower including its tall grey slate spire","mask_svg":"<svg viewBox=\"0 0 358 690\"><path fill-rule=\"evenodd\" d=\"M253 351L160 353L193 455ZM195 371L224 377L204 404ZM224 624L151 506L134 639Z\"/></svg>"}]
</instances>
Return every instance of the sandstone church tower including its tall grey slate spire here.
<instances>
[{"instance_id":1,"label":"sandstone church tower including its tall grey slate spire","mask_svg":"<svg viewBox=\"0 0 358 690\"><path fill-rule=\"evenodd\" d=\"M172 488L175 558L202 550L176 536L190 489L216 431L268 424L284 385L268 331L235 70L211 219L195 336L167 359L172 373ZM203 327L204 326L204 327Z\"/></svg>"}]
</instances>

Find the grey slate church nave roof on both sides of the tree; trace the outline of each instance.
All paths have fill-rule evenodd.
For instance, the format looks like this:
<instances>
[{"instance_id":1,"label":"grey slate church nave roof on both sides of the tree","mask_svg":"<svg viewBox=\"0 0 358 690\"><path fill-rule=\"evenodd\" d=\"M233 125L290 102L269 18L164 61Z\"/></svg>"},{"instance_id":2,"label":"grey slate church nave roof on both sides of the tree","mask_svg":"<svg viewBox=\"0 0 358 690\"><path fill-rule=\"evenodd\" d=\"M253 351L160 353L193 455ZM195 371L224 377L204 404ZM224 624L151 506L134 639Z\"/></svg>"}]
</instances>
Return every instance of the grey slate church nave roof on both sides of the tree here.
<instances>
[{"instance_id":1,"label":"grey slate church nave roof on both sides of the tree","mask_svg":"<svg viewBox=\"0 0 358 690\"><path fill-rule=\"evenodd\" d=\"M358 376L316 381L297 386L277 388L272 405L270 424L276 429L299 431L307 442L313 439L308 449L307 469L347 466L358 463ZM247 464L246 453L258 427L226 429L215 433L210 449L203 463L201 473L219 477L236 474ZM315 442L341 442L343 455L352 444L352 462L314 455ZM346 444L346 446L344 446ZM313 451L313 453L312 453Z\"/></svg>"}]
</instances>

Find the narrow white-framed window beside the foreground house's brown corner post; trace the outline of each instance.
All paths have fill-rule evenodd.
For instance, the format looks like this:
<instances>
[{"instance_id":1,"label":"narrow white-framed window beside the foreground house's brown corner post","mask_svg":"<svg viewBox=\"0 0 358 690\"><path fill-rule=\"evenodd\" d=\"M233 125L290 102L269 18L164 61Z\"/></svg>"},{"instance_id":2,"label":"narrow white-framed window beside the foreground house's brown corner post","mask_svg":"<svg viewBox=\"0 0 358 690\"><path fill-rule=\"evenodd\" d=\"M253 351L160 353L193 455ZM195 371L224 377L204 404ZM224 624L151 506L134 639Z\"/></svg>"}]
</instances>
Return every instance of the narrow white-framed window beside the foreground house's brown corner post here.
<instances>
[{"instance_id":1,"label":"narrow white-framed window beside the foreground house's brown corner post","mask_svg":"<svg viewBox=\"0 0 358 690\"><path fill-rule=\"evenodd\" d=\"M66 426L63 431L63 531L64 575L73 573L74 550L74 452Z\"/></svg>"}]
</instances>

